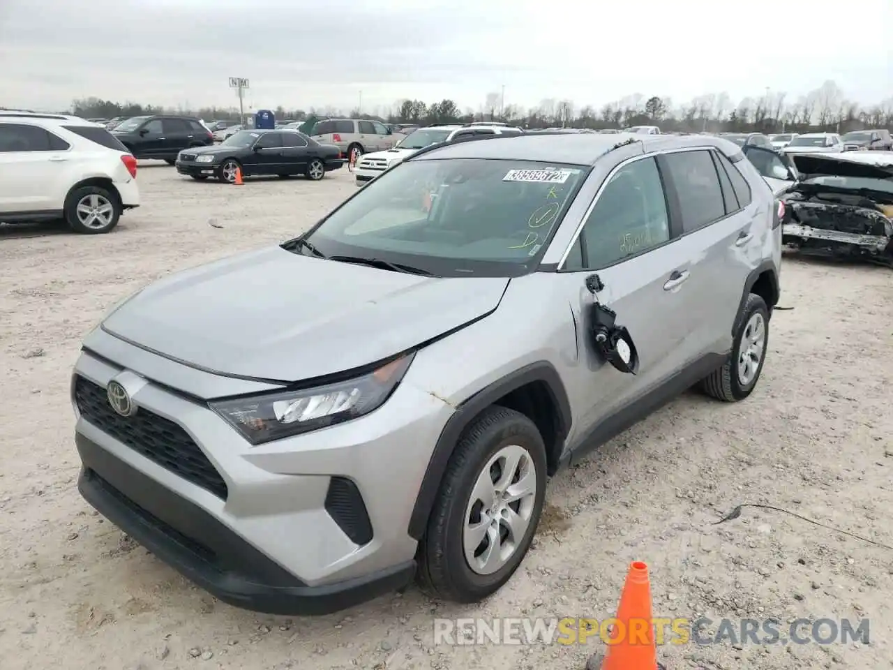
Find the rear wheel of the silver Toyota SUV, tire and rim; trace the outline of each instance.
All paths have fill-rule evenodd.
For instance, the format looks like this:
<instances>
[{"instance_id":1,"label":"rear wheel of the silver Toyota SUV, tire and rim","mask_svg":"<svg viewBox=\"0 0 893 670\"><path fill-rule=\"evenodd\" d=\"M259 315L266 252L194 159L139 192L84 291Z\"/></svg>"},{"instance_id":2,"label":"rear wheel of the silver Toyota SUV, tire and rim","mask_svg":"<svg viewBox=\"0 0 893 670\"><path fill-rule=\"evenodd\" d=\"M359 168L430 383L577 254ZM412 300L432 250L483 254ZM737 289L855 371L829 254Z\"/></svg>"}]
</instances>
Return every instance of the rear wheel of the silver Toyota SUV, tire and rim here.
<instances>
[{"instance_id":1,"label":"rear wheel of the silver Toyota SUV, tire and rim","mask_svg":"<svg viewBox=\"0 0 893 670\"><path fill-rule=\"evenodd\" d=\"M729 358L701 382L702 389L724 402L747 398L763 372L768 344L769 307L762 297L751 293L741 311Z\"/></svg>"}]
</instances>

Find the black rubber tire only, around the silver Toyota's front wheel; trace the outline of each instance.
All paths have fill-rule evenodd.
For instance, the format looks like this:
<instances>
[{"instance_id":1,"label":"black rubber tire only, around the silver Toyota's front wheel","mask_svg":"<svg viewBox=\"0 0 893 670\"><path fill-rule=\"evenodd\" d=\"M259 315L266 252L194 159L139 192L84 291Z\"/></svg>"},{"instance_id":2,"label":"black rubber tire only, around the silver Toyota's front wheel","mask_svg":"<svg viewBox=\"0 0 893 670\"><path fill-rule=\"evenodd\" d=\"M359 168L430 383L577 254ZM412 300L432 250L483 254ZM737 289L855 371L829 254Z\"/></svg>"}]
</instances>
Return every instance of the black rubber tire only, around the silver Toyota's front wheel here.
<instances>
[{"instance_id":1,"label":"black rubber tire only, around the silver Toyota's front wheel","mask_svg":"<svg viewBox=\"0 0 893 670\"><path fill-rule=\"evenodd\" d=\"M537 490L530 523L508 561L492 574L474 572L463 549L465 512L481 469L499 449L518 445L530 455ZM428 527L419 543L416 581L438 599L478 602L499 590L530 549L546 498L546 446L530 419L501 406L491 406L464 431L447 464Z\"/></svg>"}]
</instances>

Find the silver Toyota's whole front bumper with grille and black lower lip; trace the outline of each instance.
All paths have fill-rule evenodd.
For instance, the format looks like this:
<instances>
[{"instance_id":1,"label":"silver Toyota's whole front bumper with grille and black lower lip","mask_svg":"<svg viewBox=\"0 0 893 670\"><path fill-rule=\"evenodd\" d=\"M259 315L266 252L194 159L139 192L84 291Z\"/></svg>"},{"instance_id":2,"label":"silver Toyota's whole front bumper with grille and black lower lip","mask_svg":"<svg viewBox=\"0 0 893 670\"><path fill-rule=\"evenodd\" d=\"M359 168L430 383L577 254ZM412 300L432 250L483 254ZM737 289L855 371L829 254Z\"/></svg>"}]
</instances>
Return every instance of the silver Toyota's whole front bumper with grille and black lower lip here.
<instances>
[{"instance_id":1,"label":"silver Toyota's whole front bumper with grille and black lower lip","mask_svg":"<svg viewBox=\"0 0 893 670\"><path fill-rule=\"evenodd\" d=\"M196 398L269 387L101 329L85 344L72 380L79 489L157 557L235 606L280 614L336 611L411 580L410 516L450 406L401 383L371 415L251 447ZM125 376L140 380L126 418L104 390Z\"/></svg>"}]
</instances>

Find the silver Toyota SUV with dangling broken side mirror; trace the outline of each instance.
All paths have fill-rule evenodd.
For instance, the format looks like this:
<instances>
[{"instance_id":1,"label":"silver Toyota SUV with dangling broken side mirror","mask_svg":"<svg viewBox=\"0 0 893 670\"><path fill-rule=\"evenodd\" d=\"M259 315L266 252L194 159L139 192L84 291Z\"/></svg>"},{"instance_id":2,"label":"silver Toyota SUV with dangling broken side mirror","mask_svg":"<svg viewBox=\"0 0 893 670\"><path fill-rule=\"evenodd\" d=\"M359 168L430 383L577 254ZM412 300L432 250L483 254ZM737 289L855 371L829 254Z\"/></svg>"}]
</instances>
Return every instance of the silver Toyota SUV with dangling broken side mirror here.
<instances>
[{"instance_id":1,"label":"silver Toyota SUV with dangling broken side mirror","mask_svg":"<svg viewBox=\"0 0 893 670\"><path fill-rule=\"evenodd\" d=\"M84 498L231 604L499 589L547 478L690 386L747 398L779 299L772 191L722 138L438 145L278 247L90 332Z\"/></svg>"}]
</instances>

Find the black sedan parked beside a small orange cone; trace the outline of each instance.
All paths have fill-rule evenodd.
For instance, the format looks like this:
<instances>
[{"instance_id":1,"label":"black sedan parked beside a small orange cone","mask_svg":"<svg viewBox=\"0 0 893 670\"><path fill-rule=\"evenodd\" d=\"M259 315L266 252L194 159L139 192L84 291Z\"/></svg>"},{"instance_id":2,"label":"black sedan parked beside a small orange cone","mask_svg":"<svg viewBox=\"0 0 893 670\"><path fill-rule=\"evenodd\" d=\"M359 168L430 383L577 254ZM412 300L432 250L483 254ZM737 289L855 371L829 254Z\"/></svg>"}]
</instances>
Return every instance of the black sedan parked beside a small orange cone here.
<instances>
[{"instance_id":1,"label":"black sedan parked beside a small orange cone","mask_svg":"<svg viewBox=\"0 0 893 670\"><path fill-rule=\"evenodd\" d=\"M179 152L177 172L194 180L214 177L229 183L239 171L242 177L303 174L319 181L344 163L338 147L320 144L296 130L240 130L216 147Z\"/></svg>"}]
</instances>

